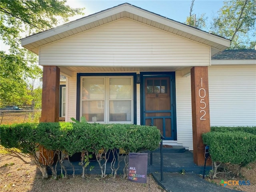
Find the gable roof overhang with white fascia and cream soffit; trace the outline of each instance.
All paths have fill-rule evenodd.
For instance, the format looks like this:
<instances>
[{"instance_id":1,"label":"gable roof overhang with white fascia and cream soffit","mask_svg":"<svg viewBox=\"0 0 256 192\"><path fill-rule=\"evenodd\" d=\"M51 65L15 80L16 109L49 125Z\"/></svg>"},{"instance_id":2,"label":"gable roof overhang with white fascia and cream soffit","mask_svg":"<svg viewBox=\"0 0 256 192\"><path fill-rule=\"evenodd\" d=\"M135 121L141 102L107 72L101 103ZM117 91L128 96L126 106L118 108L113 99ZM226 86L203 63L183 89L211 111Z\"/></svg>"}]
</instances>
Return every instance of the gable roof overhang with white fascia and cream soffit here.
<instances>
[{"instance_id":1,"label":"gable roof overhang with white fascia and cream soffit","mask_svg":"<svg viewBox=\"0 0 256 192\"><path fill-rule=\"evenodd\" d=\"M230 46L230 40L228 39L182 24L128 3L120 4L61 26L28 36L21 39L21 45L39 54L40 46L80 32L85 32L86 30L96 28L109 22L114 22L121 18L129 18L136 22L210 46L212 56Z\"/></svg>"}]
</instances>

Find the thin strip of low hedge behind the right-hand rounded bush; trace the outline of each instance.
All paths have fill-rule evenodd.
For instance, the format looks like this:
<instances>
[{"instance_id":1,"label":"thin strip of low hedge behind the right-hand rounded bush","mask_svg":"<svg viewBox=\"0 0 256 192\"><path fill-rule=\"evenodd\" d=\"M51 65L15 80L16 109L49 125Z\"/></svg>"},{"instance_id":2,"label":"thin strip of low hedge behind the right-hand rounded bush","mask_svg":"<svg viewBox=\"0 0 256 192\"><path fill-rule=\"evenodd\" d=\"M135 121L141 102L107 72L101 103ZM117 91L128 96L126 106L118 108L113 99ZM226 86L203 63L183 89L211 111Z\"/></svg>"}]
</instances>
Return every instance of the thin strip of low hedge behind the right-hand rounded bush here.
<instances>
[{"instance_id":1,"label":"thin strip of low hedge behind the right-hand rounded bush","mask_svg":"<svg viewBox=\"0 0 256 192\"><path fill-rule=\"evenodd\" d=\"M228 132L228 131L240 131L256 135L256 126L246 126L246 127L224 127L224 126L212 126L212 132Z\"/></svg>"}]
</instances>

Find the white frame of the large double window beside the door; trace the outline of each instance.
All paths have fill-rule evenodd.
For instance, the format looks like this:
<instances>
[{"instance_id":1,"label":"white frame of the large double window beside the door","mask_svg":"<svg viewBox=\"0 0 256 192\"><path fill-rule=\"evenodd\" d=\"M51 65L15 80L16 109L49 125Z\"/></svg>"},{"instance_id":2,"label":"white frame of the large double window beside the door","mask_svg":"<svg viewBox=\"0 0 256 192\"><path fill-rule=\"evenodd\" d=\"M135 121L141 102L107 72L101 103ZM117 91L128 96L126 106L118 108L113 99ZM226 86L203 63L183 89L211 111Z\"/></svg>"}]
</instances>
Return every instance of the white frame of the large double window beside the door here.
<instances>
[{"instance_id":1,"label":"white frame of the large double window beside the door","mask_svg":"<svg viewBox=\"0 0 256 192\"><path fill-rule=\"evenodd\" d=\"M102 124L110 124L110 123L122 123L122 124L133 124L134 123L134 82L133 82L133 76L81 76L80 77L80 116L82 116L82 101L87 100L90 101L90 99L82 99L82 86L83 86L83 79L84 78L104 78L104 85L105 85L105 94L104 94L104 122L98 122ZM110 99L110 78L129 78L131 80L131 98L130 99ZM92 99L94 101L97 101L96 99ZM109 121L109 101L110 100L130 100L131 101L131 121ZM101 100L99 100L101 101ZM90 122L93 123L93 122Z\"/></svg>"}]
</instances>

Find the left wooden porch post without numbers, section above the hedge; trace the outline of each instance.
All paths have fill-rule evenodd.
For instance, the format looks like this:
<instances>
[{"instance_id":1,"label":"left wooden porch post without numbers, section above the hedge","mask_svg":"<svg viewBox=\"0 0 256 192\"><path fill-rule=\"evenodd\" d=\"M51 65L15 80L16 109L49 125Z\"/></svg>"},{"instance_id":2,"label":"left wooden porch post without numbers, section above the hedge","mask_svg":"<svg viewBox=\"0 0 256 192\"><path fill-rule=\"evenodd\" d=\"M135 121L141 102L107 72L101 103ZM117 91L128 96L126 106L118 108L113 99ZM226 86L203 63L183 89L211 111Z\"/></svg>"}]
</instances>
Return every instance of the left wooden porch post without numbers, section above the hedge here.
<instances>
[{"instance_id":1,"label":"left wooden porch post without numbers, section above the hedge","mask_svg":"<svg viewBox=\"0 0 256 192\"><path fill-rule=\"evenodd\" d=\"M60 69L57 66L43 67L41 122L59 121Z\"/></svg>"}]
</instances>

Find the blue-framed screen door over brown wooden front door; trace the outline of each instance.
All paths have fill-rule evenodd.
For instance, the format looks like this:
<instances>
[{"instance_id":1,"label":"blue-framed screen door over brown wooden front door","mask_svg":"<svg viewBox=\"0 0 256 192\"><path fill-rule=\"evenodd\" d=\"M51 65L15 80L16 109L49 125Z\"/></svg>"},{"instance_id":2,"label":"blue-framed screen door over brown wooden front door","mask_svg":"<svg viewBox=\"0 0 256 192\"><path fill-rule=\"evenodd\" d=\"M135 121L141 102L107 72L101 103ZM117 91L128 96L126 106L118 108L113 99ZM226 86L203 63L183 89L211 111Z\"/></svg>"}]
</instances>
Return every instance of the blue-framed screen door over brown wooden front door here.
<instances>
[{"instance_id":1,"label":"blue-framed screen door over brown wooden front door","mask_svg":"<svg viewBox=\"0 0 256 192\"><path fill-rule=\"evenodd\" d=\"M173 76L143 76L143 124L156 126L165 140L176 140Z\"/></svg>"}]
</instances>

